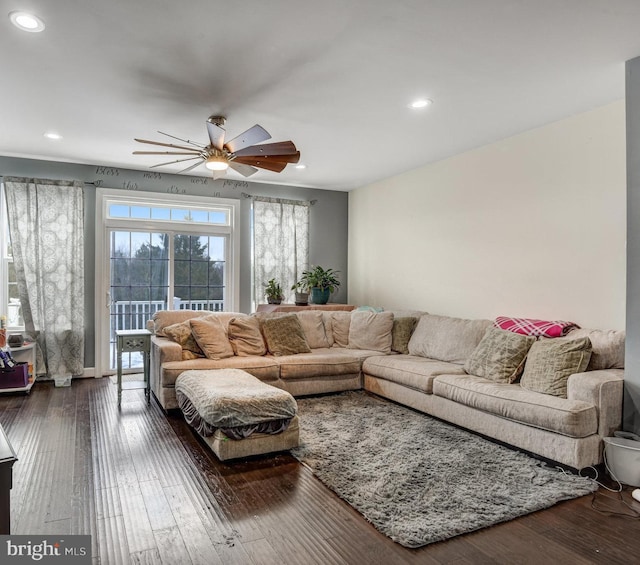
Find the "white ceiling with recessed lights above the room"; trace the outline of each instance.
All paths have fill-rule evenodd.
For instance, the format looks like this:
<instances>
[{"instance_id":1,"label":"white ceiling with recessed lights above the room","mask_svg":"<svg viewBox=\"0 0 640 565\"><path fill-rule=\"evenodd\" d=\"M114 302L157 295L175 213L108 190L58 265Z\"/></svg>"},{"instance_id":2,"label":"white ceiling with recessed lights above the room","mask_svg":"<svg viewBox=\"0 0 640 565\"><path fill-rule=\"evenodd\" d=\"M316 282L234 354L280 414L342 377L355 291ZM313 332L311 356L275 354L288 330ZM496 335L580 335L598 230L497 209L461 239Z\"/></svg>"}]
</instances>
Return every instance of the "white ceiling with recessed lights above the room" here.
<instances>
[{"instance_id":1,"label":"white ceiling with recessed lights above the room","mask_svg":"<svg viewBox=\"0 0 640 565\"><path fill-rule=\"evenodd\" d=\"M336 190L619 100L640 55L640 0L0 6L0 155L146 170L165 159L132 155L150 148L134 137L206 142L221 114L229 136L258 123L307 165L252 181ZM46 29L18 30L13 10ZM409 109L420 96L434 104Z\"/></svg>"}]
</instances>

